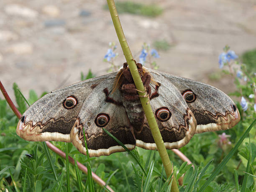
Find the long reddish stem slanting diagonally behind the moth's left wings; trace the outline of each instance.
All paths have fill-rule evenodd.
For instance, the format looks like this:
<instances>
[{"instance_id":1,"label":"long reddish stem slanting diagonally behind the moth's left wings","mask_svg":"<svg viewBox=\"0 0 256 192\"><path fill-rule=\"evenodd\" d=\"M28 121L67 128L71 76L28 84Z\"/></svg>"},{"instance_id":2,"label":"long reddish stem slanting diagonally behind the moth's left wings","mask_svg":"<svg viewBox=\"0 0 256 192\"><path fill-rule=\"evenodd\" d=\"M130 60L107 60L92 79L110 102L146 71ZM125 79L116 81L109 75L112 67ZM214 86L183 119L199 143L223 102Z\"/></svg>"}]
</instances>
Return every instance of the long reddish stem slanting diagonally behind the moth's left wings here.
<instances>
[{"instance_id":1,"label":"long reddish stem slanting diagonally behind the moth's left wings","mask_svg":"<svg viewBox=\"0 0 256 192\"><path fill-rule=\"evenodd\" d=\"M15 113L15 115L18 118L21 118L21 113L18 111L18 109L15 107L15 105L13 104L13 101L10 99L8 93L5 90L5 87L3 86L2 82L0 81L0 90L3 93L6 101L8 102L10 108L13 110L13 112ZM59 156L63 157L64 159L66 159L66 154L61 151L59 148L57 148L56 146L54 146L53 144L51 144L49 141L46 141L46 145L48 146L48 148L50 148L52 151L54 151L56 154L58 154ZM74 159L72 157L69 156L69 162L72 163L74 165ZM77 161L77 166L78 168L84 172L85 174L87 174L88 170L87 167L84 166L83 164L81 164L80 162ZM106 183L100 179L100 177L98 177L94 172L92 172L92 179L95 180L95 182L97 184L100 184L101 186L105 186ZM114 192L113 189L111 189L111 187L109 187L108 185L106 186L106 188L108 190L110 190L111 192Z\"/></svg>"}]
</instances>

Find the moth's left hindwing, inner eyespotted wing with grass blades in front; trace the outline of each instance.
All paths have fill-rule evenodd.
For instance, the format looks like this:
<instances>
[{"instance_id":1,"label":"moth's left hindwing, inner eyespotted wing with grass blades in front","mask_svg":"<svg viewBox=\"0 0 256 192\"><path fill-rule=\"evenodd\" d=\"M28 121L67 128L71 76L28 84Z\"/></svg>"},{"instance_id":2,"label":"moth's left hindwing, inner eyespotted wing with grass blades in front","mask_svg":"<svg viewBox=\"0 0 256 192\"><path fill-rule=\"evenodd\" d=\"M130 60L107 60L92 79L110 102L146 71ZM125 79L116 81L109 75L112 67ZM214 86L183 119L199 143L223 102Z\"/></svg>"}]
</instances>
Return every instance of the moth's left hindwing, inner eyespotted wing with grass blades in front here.
<instances>
[{"instance_id":1,"label":"moth's left hindwing, inner eyespotted wing with grass blades in front","mask_svg":"<svg viewBox=\"0 0 256 192\"><path fill-rule=\"evenodd\" d=\"M112 133L128 149L132 150L135 147L136 141L130 120L121 103L120 91L112 92L113 83L112 79L107 79L92 90L74 123L70 138L82 154L86 154L82 128L85 131L90 156L125 151L102 128Z\"/></svg>"}]
</instances>

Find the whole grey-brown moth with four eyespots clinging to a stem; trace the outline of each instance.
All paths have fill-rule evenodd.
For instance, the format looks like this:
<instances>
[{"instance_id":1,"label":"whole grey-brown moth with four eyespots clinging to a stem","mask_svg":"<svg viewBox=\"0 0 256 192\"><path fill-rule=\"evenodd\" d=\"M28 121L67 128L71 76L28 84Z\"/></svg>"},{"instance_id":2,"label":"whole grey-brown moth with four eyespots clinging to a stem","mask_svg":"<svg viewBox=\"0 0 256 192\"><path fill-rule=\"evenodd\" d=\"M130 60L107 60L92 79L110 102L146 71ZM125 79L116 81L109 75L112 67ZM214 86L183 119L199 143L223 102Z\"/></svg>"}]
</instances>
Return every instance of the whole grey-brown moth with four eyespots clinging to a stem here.
<instances>
[{"instance_id":1,"label":"whole grey-brown moth with four eyespots clinging to a stem","mask_svg":"<svg viewBox=\"0 0 256 192\"><path fill-rule=\"evenodd\" d=\"M195 133L239 122L234 102L215 87L136 65L167 149L186 145ZM16 133L28 141L72 142L86 154L83 128L90 156L125 151L102 128L129 150L156 148L126 63L117 72L45 95L26 110Z\"/></svg>"}]
</instances>

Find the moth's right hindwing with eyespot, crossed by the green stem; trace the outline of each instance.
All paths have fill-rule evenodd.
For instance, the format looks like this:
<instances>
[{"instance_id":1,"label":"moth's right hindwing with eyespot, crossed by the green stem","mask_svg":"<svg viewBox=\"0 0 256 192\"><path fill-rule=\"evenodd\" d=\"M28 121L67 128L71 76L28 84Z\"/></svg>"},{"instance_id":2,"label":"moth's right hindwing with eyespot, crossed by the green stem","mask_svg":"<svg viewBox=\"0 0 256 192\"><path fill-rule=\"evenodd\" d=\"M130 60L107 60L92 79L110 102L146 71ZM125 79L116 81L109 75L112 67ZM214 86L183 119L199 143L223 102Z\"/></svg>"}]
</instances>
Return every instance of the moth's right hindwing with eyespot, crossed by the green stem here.
<instances>
[{"instance_id":1,"label":"moth's right hindwing with eyespot, crossed by the green stem","mask_svg":"<svg viewBox=\"0 0 256 192\"><path fill-rule=\"evenodd\" d=\"M166 83L167 79L157 73L153 74L153 80L158 85L151 83L150 104L164 145L167 149L180 148L194 135L197 122L179 90L171 82ZM146 119L144 122L141 129L134 129L136 146L155 149L156 144Z\"/></svg>"}]
</instances>

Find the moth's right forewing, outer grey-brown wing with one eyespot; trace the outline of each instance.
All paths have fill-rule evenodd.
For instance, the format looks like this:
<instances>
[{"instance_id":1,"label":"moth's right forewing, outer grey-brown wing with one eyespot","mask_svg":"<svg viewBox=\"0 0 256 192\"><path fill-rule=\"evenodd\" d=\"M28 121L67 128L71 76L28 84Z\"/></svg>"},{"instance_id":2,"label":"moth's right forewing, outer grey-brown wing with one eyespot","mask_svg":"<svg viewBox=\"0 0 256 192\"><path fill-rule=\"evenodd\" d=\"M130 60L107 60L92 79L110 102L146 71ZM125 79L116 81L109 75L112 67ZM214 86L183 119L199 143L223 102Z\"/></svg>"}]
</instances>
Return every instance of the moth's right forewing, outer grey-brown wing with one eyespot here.
<instances>
[{"instance_id":1,"label":"moth's right forewing, outer grey-brown wing with one eyespot","mask_svg":"<svg viewBox=\"0 0 256 192\"><path fill-rule=\"evenodd\" d=\"M239 122L240 114L235 103L217 88L164 72L148 71L153 77L160 74L167 80L166 83L174 84L185 97L187 94L195 94L195 100L187 102L187 105L197 120L196 133L230 129Z\"/></svg>"}]
</instances>

